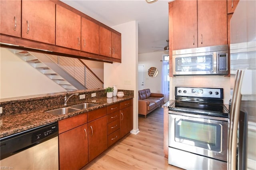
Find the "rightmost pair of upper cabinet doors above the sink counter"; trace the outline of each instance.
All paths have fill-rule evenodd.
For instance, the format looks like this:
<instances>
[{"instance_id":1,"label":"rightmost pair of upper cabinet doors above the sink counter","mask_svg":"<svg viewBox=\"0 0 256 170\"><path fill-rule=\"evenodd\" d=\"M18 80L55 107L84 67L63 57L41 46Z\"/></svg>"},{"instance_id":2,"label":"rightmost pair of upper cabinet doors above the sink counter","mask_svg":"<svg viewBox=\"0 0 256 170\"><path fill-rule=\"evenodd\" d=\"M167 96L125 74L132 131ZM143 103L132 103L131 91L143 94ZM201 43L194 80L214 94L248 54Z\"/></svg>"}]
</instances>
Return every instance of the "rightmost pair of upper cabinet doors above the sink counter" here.
<instances>
[{"instance_id":1,"label":"rightmost pair of upper cabinet doors above the sink counter","mask_svg":"<svg viewBox=\"0 0 256 170\"><path fill-rule=\"evenodd\" d=\"M121 36L100 26L99 54L121 59Z\"/></svg>"}]
</instances>

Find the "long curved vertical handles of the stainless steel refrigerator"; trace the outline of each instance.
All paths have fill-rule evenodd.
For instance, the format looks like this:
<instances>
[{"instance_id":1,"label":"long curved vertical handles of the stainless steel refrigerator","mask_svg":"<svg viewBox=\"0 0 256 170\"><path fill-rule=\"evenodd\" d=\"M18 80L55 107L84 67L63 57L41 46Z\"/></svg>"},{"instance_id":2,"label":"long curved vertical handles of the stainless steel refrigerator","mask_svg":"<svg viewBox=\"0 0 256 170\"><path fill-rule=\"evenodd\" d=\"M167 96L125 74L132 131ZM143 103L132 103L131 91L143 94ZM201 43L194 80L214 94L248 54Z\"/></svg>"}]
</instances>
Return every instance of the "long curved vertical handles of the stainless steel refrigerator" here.
<instances>
[{"instance_id":1,"label":"long curved vertical handles of the stainless steel refrigerator","mask_svg":"<svg viewBox=\"0 0 256 170\"><path fill-rule=\"evenodd\" d=\"M232 105L229 120L228 131L228 170L236 169L236 146L237 146L237 130L238 121L240 116L241 105L241 87L244 70L238 70L236 72L236 80L234 86L234 94L232 97Z\"/></svg>"}]
</instances>

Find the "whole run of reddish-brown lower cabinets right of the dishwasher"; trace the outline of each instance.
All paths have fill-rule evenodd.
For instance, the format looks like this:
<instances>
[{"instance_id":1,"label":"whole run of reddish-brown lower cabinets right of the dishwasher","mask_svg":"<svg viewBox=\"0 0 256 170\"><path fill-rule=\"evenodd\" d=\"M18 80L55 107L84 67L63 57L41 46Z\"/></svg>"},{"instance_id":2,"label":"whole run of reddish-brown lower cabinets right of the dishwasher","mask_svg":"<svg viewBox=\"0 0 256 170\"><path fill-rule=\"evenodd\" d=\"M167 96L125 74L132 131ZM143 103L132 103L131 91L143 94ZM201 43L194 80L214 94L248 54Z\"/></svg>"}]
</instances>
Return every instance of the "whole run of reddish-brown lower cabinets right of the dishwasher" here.
<instances>
[{"instance_id":1,"label":"whole run of reddish-brown lower cabinets right of the dishwasher","mask_svg":"<svg viewBox=\"0 0 256 170\"><path fill-rule=\"evenodd\" d=\"M133 99L63 119L58 124L60 170L81 169L132 130Z\"/></svg>"}]
</instances>

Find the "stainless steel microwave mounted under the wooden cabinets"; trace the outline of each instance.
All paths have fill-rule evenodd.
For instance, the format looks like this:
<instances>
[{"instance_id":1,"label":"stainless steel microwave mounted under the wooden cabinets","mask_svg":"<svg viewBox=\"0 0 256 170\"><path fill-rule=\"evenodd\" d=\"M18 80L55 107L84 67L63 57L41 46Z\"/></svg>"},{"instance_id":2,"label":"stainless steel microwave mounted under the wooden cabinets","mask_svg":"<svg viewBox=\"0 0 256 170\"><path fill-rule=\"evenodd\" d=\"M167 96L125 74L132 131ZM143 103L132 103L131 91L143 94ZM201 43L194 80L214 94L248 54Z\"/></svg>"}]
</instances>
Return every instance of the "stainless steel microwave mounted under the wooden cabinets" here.
<instances>
[{"instance_id":1,"label":"stainless steel microwave mounted under the wooden cabinets","mask_svg":"<svg viewBox=\"0 0 256 170\"><path fill-rule=\"evenodd\" d=\"M228 45L172 51L172 73L176 75L227 75Z\"/></svg>"}]
</instances>

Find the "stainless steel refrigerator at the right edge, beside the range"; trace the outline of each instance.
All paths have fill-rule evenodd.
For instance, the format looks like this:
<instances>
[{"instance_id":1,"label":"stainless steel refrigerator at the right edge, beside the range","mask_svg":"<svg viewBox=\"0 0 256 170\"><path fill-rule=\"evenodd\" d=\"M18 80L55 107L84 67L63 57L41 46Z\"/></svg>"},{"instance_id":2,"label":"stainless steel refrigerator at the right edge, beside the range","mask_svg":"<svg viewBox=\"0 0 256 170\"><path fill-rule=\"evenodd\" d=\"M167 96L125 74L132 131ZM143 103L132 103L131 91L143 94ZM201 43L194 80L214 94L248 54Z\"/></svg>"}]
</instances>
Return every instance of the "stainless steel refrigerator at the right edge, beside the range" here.
<instances>
[{"instance_id":1,"label":"stainless steel refrigerator at the right edge, beside the range","mask_svg":"<svg viewBox=\"0 0 256 170\"><path fill-rule=\"evenodd\" d=\"M240 0L230 20L230 73L228 170L256 170L256 0Z\"/></svg>"}]
</instances>

